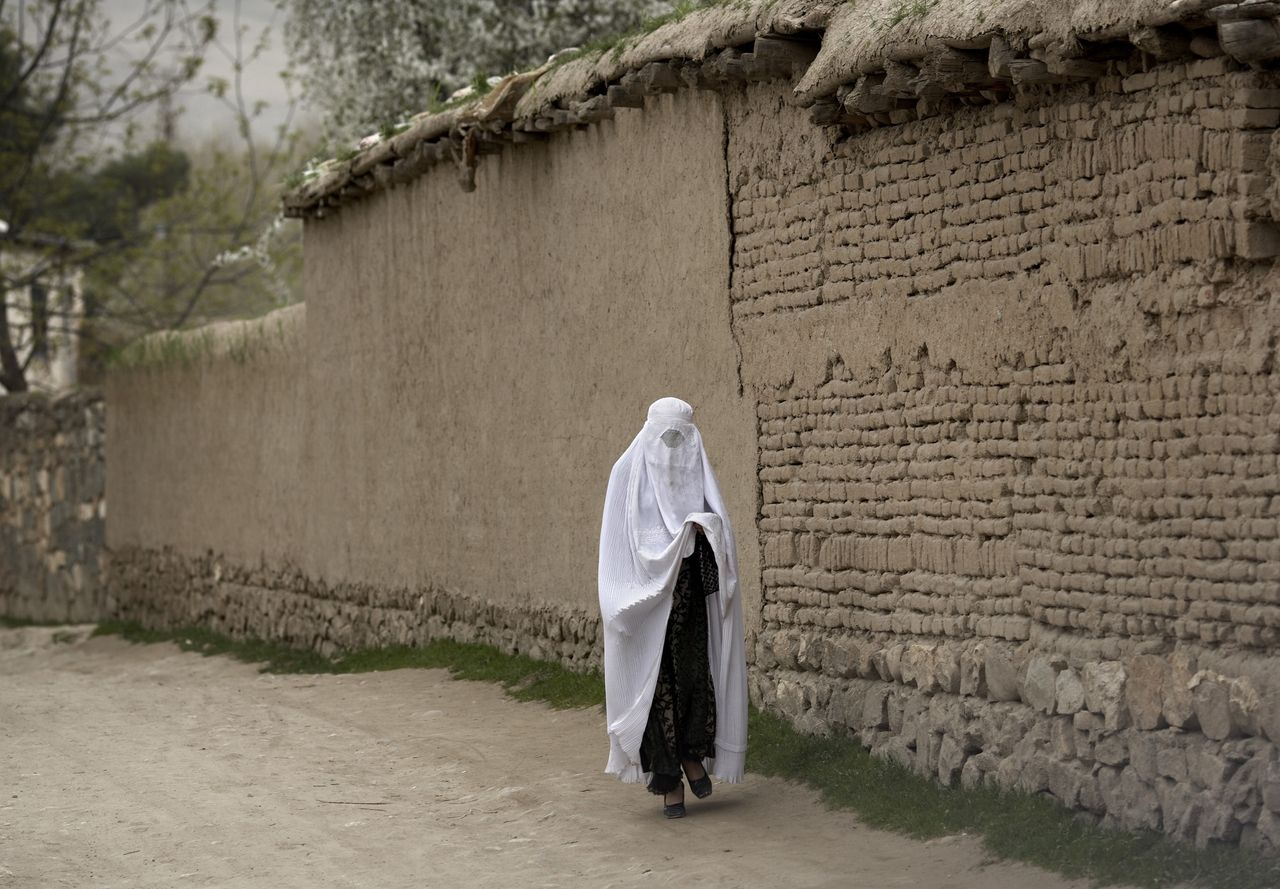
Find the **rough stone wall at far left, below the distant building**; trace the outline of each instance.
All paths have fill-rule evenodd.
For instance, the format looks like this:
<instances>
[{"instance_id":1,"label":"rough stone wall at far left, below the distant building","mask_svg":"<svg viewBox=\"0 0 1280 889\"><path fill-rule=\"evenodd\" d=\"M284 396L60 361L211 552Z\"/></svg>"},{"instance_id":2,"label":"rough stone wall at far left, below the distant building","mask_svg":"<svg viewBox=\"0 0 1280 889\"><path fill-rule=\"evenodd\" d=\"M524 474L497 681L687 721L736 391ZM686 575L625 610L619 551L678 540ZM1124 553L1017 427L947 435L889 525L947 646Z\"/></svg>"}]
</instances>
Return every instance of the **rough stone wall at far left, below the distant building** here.
<instances>
[{"instance_id":1,"label":"rough stone wall at far left, below the distant building","mask_svg":"<svg viewBox=\"0 0 1280 889\"><path fill-rule=\"evenodd\" d=\"M102 617L102 398L0 398L0 617Z\"/></svg>"}]
</instances>

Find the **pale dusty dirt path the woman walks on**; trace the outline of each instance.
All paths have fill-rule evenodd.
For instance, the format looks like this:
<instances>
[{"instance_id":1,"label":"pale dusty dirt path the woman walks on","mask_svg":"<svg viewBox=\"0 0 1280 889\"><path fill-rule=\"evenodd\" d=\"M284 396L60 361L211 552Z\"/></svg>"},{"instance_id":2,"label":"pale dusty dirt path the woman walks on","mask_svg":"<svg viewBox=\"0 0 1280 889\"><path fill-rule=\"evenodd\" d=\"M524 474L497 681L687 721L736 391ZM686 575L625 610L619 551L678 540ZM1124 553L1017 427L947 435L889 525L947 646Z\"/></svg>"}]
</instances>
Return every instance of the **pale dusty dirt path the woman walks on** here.
<instances>
[{"instance_id":1,"label":"pale dusty dirt path the woman walks on","mask_svg":"<svg viewBox=\"0 0 1280 889\"><path fill-rule=\"evenodd\" d=\"M748 775L664 821L595 710L0 629L0 886L1078 886ZM690 797L691 798L691 797Z\"/></svg>"}]
</instances>

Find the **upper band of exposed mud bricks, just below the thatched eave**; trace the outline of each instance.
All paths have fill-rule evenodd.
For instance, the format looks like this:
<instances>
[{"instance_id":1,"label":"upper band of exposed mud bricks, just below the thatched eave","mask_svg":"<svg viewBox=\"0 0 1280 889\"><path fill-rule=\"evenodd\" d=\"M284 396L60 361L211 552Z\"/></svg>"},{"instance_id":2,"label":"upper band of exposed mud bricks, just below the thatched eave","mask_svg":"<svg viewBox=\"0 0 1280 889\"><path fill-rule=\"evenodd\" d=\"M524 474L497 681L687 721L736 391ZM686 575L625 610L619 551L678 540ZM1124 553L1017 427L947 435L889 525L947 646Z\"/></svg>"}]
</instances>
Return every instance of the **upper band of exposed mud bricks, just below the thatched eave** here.
<instances>
[{"instance_id":1,"label":"upper band of exposed mud bricks, just below the thatched eave","mask_svg":"<svg viewBox=\"0 0 1280 889\"><path fill-rule=\"evenodd\" d=\"M1222 60L1021 95L836 147L795 113L744 102L744 118L762 113L794 129L771 132L785 150L768 159L754 153L765 147L755 122L735 128L739 162L754 165L737 171L733 205L737 320L973 283L1079 290L1280 249L1268 165L1280 92L1272 75ZM1158 315L1206 299L1143 295Z\"/></svg>"}]
</instances>

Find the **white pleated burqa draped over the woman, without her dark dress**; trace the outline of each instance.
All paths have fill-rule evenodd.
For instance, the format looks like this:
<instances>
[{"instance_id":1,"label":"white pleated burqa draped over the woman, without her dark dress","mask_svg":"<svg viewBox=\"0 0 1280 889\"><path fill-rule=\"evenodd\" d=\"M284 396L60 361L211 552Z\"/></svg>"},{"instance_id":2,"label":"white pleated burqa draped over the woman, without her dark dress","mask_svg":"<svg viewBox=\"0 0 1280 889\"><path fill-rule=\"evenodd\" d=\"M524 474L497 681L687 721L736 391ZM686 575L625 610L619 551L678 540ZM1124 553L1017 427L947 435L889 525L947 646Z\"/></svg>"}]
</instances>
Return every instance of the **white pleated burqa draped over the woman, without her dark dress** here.
<instances>
[{"instance_id":1,"label":"white pleated burqa draped over the woman, without her dark dress","mask_svg":"<svg viewBox=\"0 0 1280 889\"><path fill-rule=\"evenodd\" d=\"M719 592L707 596L707 642L716 688L716 756L703 762L723 782L742 780L746 756L746 655L737 547L694 409L662 398L613 471L600 524L600 617L609 733L605 771L648 782L640 739L649 720L672 590L701 526L716 553Z\"/></svg>"}]
</instances>

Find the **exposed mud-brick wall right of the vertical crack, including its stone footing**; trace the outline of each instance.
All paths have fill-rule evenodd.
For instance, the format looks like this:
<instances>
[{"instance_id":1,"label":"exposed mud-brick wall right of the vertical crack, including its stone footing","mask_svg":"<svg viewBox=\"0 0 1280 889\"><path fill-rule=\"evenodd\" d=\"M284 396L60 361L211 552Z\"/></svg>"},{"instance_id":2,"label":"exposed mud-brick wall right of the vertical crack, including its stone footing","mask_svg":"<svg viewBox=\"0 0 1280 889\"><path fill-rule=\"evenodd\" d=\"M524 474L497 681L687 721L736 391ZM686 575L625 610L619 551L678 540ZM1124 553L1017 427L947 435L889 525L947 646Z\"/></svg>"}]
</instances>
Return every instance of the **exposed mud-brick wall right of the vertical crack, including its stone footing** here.
<instances>
[{"instance_id":1,"label":"exposed mud-brick wall right of the vertical crack, including its stone footing","mask_svg":"<svg viewBox=\"0 0 1280 889\"><path fill-rule=\"evenodd\" d=\"M760 702L1280 844L1276 87L1165 65L844 141L731 104Z\"/></svg>"}]
</instances>

